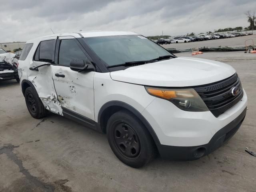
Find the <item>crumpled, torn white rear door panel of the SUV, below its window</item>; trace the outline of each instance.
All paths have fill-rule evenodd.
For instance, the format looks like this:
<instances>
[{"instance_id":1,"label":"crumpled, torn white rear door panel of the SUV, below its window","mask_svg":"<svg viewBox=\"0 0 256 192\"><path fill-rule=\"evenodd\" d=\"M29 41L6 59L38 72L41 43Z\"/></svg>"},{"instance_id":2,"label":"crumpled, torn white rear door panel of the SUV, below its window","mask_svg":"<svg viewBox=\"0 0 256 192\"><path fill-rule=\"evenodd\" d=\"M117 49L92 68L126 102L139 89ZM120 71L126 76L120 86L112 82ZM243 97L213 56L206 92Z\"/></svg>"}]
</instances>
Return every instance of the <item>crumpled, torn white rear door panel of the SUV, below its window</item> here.
<instances>
[{"instance_id":1,"label":"crumpled, torn white rear door panel of the SUV, below its window","mask_svg":"<svg viewBox=\"0 0 256 192\"><path fill-rule=\"evenodd\" d=\"M34 61L31 67L42 65L44 62ZM28 70L28 80L32 82L44 107L56 114L62 114L61 104L54 88L52 80L52 65L42 66L38 71Z\"/></svg>"}]
</instances>

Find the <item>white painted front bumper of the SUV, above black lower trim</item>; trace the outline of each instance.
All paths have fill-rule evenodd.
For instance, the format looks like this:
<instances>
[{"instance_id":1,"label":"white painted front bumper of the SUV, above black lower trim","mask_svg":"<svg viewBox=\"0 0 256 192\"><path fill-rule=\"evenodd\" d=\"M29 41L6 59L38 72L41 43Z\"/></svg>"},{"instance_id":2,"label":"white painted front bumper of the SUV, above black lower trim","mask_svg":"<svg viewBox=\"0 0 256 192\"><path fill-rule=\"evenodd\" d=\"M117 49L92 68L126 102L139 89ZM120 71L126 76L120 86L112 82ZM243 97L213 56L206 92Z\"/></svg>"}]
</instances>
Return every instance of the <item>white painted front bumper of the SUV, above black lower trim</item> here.
<instances>
[{"instance_id":1,"label":"white painted front bumper of the SUV, above black lower trim","mask_svg":"<svg viewBox=\"0 0 256 192\"><path fill-rule=\"evenodd\" d=\"M167 100L154 98L142 115L153 128L159 144L190 147L208 144L219 130L240 116L246 106L245 91L236 105L217 118L210 111L183 111Z\"/></svg>"}]
</instances>

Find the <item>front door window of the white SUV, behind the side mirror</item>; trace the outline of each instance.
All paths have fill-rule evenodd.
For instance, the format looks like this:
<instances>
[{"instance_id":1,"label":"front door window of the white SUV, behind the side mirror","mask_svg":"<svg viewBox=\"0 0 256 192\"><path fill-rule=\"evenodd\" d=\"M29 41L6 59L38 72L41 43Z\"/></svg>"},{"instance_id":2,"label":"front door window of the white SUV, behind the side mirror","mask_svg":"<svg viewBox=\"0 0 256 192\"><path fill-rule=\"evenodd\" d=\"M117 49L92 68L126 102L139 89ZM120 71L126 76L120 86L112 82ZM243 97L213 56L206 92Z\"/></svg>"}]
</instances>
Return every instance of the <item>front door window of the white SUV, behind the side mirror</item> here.
<instances>
[{"instance_id":1,"label":"front door window of the white SUV, behind the side mirror","mask_svg":"<svg viewBox=\"0 0 256 192\"><path fill-rule=\"evenodd\" d=\"M80 59L88 63L88 59L78 44L73 39L64 39L60 42L58 64L69 66L70 60Z\"/></svg>"}]
</instances>

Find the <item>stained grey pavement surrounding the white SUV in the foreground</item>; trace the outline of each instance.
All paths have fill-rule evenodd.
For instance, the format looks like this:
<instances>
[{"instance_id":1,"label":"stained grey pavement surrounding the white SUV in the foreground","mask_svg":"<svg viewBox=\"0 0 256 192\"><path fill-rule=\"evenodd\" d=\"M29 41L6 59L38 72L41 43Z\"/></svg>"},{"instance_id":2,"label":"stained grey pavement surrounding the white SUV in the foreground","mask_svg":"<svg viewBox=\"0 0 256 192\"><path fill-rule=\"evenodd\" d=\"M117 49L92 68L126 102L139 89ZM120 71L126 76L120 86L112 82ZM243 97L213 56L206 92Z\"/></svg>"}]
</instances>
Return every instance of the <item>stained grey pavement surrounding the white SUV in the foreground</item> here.
<instances>
[{"instance_id":1,"label":"stained grey pavement surrounding the white SUV in the foreground","mask_svg":"<svg viewBox=\"0 0 256 192\"><path fill-rule=\"evenodd\" d=\"M244 151L256 152L256 54L193 57L232 65L248 95L241 128L217 151L190 162L156 158L130 168L114 156L104 134L57 115L34 119L16 80L0 82L0 192L256 191L256 158Z\"/></svg>"}]
</instances>

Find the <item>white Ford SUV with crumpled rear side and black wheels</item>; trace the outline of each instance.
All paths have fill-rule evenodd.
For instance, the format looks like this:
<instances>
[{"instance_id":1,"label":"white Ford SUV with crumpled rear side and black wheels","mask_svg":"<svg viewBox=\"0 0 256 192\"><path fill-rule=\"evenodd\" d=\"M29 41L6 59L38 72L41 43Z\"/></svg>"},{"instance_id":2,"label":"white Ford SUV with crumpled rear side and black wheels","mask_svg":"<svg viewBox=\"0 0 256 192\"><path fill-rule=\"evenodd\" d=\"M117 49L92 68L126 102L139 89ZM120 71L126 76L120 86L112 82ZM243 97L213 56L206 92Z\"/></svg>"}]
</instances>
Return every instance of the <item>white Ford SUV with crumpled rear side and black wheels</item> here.
<instances>
[{"instance_id":1,"label":"white Ford SUV with crumpled rear side and black wheels","mask_svg":"<svg viewBox=\"0 0 256 192\"><path fill-rule=\"evenodd\" d=\"M107 134L140 167L155 154L194 160L228 140L247 96L231 66L177 58L134 32L92 31L26 43L18 72L31 116L52 112Z\"/></svg>"}]
</instances>

